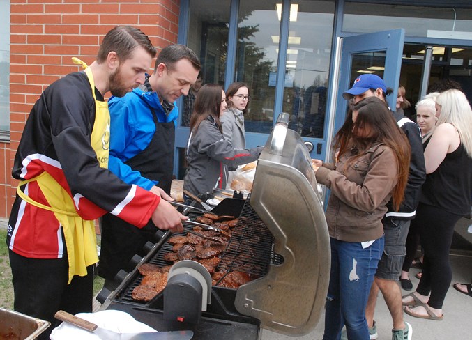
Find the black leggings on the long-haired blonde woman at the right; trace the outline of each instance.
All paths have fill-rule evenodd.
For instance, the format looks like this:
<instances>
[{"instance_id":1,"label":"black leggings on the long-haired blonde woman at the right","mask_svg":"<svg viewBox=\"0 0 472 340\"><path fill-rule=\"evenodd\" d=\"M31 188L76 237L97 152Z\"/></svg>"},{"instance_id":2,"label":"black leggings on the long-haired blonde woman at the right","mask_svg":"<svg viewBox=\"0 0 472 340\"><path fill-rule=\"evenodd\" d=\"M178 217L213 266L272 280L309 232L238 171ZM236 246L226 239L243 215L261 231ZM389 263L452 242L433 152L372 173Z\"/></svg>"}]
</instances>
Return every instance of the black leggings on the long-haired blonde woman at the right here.
<instances>
[{"instance_id":1,"label":"black leggings on the long-haired blonde woman at the right","mask_svg":"<svg viewBox=\"0 0 472 340\"><path fill-rule=\"evenodd\" d=\"M415 220L420 226L421 244L425 249L422 276L416 291L421 295L431 293L428 304L433 308L443 307L452 280L449 250L454 226L460 218L460 215L421 203L416 210Z\"/></svg>"}]
</instances>

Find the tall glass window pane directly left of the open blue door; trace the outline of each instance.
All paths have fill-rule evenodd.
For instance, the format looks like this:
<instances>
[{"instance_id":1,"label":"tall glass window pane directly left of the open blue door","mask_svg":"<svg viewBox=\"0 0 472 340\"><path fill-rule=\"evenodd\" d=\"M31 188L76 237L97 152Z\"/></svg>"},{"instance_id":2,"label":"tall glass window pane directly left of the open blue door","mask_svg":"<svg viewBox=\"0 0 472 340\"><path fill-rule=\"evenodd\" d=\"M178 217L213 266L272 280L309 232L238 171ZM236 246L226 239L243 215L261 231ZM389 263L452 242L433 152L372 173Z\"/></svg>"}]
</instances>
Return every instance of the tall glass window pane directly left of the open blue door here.
<instances>
[{"instance_id":1,"label":"tall glass window pane directly left of the open blue door","mask_svg":"<svg viewBox=\"0 0 472 340\"><path fill-rule=\"evenodd\" d=\"M323 138L335 3L293 3L298 15L289 26L283 111L290 114L291 129Z\"/></svg>"}]
</instances>

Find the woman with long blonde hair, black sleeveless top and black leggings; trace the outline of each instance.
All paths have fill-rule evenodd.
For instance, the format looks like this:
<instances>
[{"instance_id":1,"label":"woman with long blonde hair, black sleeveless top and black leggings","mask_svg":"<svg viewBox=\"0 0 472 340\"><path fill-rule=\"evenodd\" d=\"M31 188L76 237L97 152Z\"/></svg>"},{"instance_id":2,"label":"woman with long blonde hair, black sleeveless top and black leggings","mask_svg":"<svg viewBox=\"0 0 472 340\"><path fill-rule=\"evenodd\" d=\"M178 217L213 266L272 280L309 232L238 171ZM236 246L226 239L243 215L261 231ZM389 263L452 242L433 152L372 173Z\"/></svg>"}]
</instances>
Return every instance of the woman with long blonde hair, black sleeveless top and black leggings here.
<instances>
[{"instance_id":1,"label":"woman with long blonde hair, black sleeveless top and black leggings","mask_svg":"<svg viewBox=\"0 0 472 340\"><path fill-rule=\"evenodd\" d=\"M449 250L456 222L471 212L472 109L466 95L448 90L436 98L438 123L425 150L426 182L416 224L425 250L422 277L402 299L406 314L442 320L452 279Z\"/></svg>"}]
</instances>

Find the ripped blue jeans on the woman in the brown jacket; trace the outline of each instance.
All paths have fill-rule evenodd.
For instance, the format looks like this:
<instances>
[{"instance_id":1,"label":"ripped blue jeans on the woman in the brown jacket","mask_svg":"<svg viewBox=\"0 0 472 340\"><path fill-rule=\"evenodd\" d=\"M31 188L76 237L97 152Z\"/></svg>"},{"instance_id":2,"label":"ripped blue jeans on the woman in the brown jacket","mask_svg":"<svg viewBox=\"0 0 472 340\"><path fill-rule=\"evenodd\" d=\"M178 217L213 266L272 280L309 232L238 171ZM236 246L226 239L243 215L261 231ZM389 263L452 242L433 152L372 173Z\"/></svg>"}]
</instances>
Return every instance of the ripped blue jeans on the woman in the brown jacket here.
<instances>
[{"instance_id":1,"label":"ripped blue jeans on the woman in the brown jacket","mask_svg":"<svg viewBox=\"0 0 472 340\"><path fill-rule=\"evenodd\" d=\"M331 273L326 299L323 340L339 340L346 325L347 339L367 340L365 306L382 256L383 236L370 247L330 238Z\"/></svg>"}]
</instances>

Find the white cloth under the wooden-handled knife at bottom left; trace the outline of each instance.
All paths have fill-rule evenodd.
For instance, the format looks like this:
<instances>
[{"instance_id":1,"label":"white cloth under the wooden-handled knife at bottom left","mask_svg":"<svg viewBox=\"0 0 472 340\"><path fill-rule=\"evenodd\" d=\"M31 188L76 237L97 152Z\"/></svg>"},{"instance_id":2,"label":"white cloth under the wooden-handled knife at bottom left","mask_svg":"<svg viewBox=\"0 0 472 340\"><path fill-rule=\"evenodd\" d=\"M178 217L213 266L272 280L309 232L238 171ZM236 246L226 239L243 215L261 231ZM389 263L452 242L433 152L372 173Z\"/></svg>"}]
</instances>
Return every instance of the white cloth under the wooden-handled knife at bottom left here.
<instances>
[{"instance_id":1,"label":"white cloth under the wooden-handled knife at bottom left","mask_svg":"<svg viewBox=\"0 0 472 340\"><path fill-rule=\"evenodd\" d=\"M157 332L145 323L135 320L130 314L124 311L98 311L96 313L79 313L79 318L83 318L91 323L95 323L98 327L112 330L117 333L138 333L138 332ZM52 330L50 335L52 340L100 340L98 335L86 330L82 330L70 323L61 323Z\"/></svg>"}]
</instances>

